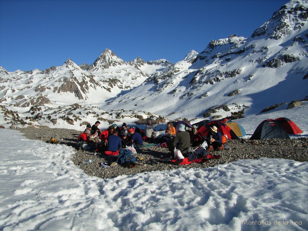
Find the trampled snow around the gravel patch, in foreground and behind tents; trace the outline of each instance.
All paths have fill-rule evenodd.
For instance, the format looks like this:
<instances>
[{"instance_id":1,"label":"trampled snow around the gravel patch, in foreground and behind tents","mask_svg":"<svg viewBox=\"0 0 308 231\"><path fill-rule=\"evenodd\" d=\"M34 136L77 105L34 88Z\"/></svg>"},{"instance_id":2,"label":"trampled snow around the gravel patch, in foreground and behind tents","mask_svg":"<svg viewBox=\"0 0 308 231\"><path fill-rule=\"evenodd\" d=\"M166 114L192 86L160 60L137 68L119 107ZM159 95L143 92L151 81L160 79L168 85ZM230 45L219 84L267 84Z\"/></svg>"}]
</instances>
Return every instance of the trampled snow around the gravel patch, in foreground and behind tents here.
<instances>
[{"instance_id":1,"label":"trampled snow around the gravel patch, in foreground and behind tents","mask_svg":"<svg viewBox=\"0 0 308 231\"><path fill-rule=\"evenodd\" d=\"M308 105L289 110L307 137ZM237 122L250 131L289 110ZM308 230L307 162L259 158L101 179L73 164L71 147L0 133L19 141L0 140L3 231Z\"/></svg>"}]
</instances>

